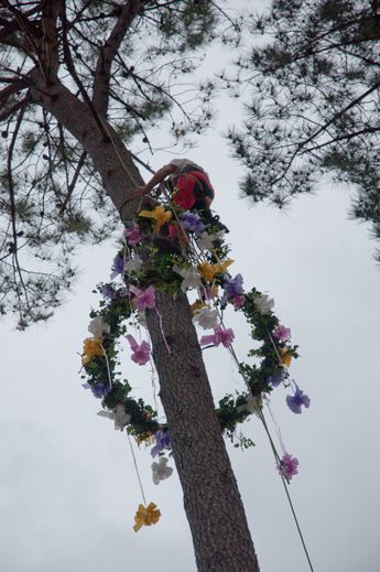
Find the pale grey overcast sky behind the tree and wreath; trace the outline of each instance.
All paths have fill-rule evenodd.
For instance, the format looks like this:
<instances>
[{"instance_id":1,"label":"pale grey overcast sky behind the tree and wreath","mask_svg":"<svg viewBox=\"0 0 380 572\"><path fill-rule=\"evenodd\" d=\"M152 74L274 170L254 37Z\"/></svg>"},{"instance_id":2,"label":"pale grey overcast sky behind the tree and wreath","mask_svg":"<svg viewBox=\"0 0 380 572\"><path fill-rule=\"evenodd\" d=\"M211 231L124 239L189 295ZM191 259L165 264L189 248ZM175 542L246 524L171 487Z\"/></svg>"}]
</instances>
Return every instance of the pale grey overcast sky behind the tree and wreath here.
<instances>
[{"instance_id":1,"label":"pale grey overcast sky behind the tree and wreath","mask_svg":"<svg viewBox=\"0 0 380 572\"><path fill-rule=\"evenodd\" d=\"M237 111L222 108L216 128ZM378 572L380 270L368 228L347 216L354 190L326 182L285 214L250 208L238 198L241 170L216 131L188 157L216 188L215 209L230 228L231 272L274 298L300 345L290 373L311 408L293 414L282 388L272 404L286 449L300 460L290 490L315 571ZM152 164L165 161L156 153ZM153 485L149 451L137 452L146 497L162 518L134 533L141 499L126 434L97 417L99 401L80 386L78 354L97 301L91 290L108 280L115 252L113 241L80 250L75 291L48 324L25 333L9 321L1 327L2 572L195 572L176 473ZM243 320L230 312L226 324L245 358ZM126 377L137 396L151 396L149 371L124 347ZM227 350L205 357L216 399L242 389ZM230 454L261 570L307 571L263 430L256 419L243 429L257 446Z\"/></svg>"}]
</instances>

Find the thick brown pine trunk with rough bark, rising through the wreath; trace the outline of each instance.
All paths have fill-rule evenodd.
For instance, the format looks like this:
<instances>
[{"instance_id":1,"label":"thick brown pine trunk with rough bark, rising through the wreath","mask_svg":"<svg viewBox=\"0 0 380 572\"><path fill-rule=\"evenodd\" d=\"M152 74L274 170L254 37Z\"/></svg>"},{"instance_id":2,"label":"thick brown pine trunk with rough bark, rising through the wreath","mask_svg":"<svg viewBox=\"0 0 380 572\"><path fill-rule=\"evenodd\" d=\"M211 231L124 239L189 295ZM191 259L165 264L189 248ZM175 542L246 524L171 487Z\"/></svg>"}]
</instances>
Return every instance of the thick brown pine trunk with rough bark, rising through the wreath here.
<instances>
[{"instance_id":1,"label":"thick brown pine trunk with rough bark, rising through the wreath","mask_svg":"<svg viewBox=\"0 0 380 572\"><path fill-rule=\"evenodd\" d=\"M126 198L143 181L128 150L110 126L106 136L101 133L88 108L64 86L43 87L35 91L36 99L91 157L121 220L132 219L139 201L126 203ZM155 312L149 313L148 325L197 568L200 572L258 572L187 298L181 294L173 300L159 293L158 310L170 353Z\"/></svg>"}]
</instances>

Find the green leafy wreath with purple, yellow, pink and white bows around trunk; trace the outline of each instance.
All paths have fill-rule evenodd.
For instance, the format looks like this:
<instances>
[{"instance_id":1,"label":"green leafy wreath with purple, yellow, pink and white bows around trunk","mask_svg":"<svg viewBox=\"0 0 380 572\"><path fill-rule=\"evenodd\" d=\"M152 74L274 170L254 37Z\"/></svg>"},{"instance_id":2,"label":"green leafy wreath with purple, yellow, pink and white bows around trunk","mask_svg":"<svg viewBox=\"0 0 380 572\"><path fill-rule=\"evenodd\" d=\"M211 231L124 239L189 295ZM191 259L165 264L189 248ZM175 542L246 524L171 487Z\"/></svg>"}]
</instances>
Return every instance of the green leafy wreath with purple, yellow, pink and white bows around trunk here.
<instances>
[{"instance_id":1,"label":"green leafy wreath with purple, yellow, pink and white bows around trunk","mask_svg":"<svg viewBox=\"0 0 380 572\"><path fill-rule=\"evenodd\" d=\"M205 217L197 212L182 212L172 204L142 209L137 220L124 230L123 246L113 259L110 282L99 284L102 300L98 311L91 311L88 327L93 337L84 342L84 387L90 388L96 398L102 399L100 415L110 418L115 428L127 429L137 442L152 445L153 482L167 478L172 468L166 466L164 450L171 450L170 428L161 422L156 408L141 398L131 396L130 384L118 371L118 341L126 337L131 348L131 359L143 366L152 363L151 345L138 343L129 333L131 328L145 327L146 311L156 311L155 291L174 298L180 292L194 290L193 322L213 333L200 337L200 346L225 346L238 365L246 390L235 396L226 395L216 408L220 430L235 443L248 447L254 443L237 434L239 423L256 413L264 423L263 403L273 389L283 385L291 389L286 403L294 413L310 406L310 398L290 378L287 368L292 358L298 357L297 346L291 344L290 328L280 324L273 313L273 300L254 288L243 290L241 274L235 278L227 271L234 262L228 258L229 248L224 241L226 227L217 217ZM221 293L219 293L221 290ZM95 291L95 292L96 292ZM235 334L224 325L224 310L231 304L242 312L251 326L251 337L261 343L251 349L249 357L260 365L237 359L232 347ZM140 332L141 333L141 332ZM148 332L146 332L148 334ZM280 475L290 481L297 473L298 461L283 450L276 454ZM155 524L160 517L154 504L139 506L134 529Z\"/></svg>"}]
</instances>

